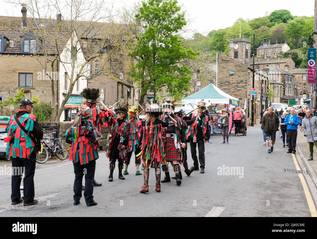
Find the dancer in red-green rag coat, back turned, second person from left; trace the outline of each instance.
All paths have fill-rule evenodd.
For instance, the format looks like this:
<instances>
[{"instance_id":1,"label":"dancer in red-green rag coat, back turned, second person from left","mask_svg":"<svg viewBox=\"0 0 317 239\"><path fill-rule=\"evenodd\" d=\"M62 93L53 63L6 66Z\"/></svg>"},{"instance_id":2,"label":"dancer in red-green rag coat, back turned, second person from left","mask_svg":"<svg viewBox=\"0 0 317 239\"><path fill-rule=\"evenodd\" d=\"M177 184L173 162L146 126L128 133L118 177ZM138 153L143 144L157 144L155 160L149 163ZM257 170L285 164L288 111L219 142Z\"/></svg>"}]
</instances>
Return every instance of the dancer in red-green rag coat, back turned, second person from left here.
<instances>
[{"instance_id":1,"label":"dancer in red-green rag coat, back turned, second person from left","mask_svg":"<svg viewBox=\"0 0 317 239\"><path fill-rule=\"evenodd\" d=\"M90 109L86 105L81 106L76 123L65 133L65 142L71 144L69 161L74 165L74 205L78 205L81 199L82 178L85 175L84 197L87 206L97 205L94 201L94 175L96 159L99 158L97 146L101 133L90 120Z\"/></svg>"}]
</instances>

